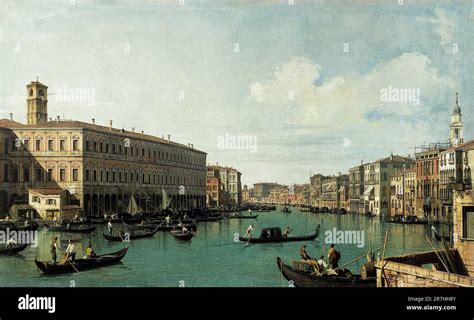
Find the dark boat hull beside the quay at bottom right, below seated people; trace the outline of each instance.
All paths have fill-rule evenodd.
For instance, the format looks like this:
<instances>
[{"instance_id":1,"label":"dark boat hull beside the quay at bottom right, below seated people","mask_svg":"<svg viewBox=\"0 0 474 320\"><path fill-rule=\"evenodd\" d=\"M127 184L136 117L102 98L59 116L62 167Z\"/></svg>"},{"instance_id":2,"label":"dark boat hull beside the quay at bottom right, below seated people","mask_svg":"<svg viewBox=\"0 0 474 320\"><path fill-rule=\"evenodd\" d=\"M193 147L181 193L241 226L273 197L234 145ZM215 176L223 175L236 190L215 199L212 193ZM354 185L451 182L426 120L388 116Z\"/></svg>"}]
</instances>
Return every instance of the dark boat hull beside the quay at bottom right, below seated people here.
<instances>
[{"instance_id":1,"label":"dark boat hull beside the quay at bottom right, below seated people","mask_svg":"<svg viewBox=\"0 0 474 320\"><path fill-rule=\"evenodd\" d=\"M316 275L310 271L297 270L283 263L277 257L277 265L281 274L288 281L292 281L295 287L299 288L375 288L376 278L369 277L362 279L360 275L340 276L340 275Z\"/></svg>"}]
</instances>

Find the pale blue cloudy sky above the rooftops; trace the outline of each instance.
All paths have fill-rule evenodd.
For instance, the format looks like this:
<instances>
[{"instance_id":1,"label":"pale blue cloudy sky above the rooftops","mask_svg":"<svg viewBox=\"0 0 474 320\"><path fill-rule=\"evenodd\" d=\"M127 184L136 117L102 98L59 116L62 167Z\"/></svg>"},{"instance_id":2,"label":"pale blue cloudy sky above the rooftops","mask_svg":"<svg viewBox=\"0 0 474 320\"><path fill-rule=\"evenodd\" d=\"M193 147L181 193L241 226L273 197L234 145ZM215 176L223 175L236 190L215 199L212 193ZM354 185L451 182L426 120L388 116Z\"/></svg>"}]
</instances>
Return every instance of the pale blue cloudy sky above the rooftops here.
<instances>
[{"instance_id":1,"label":"pale blue cloudy sky above the rooftops","mask_svg":"<svg viewBox=\"0 0 474 320\"><path fill-rule=\"evenodd\" d=\"M245 184L308 182L446 142L455 93L474 137L474 1L0 2L0 118L144 130Z\"/></svg>"}]
</instances>

